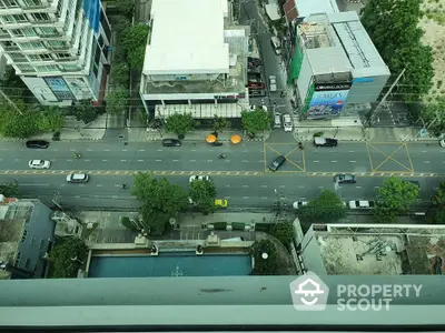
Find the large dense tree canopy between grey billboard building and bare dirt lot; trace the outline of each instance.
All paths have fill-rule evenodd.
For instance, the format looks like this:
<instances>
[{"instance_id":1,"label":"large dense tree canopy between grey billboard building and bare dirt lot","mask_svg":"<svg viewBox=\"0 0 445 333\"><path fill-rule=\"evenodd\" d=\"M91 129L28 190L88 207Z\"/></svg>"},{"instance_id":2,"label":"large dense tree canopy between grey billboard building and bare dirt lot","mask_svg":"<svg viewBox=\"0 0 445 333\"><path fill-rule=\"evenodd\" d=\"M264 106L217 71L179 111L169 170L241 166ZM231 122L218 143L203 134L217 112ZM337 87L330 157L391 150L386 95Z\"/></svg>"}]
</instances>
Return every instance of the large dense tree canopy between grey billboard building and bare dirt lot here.
<instances>
[{"instance_id":1,"label":"large dense tree canopy between grey billboard building and bare dirt lot","mask_svg":"<svg viewBox=\"0 0 445 333\"><path fill-rule=\"evenodd\" d=\"M394 75L406 67L398 92L406 101L418 101L433 79L433 54L422 44L422 0L369 0L362 23Z\"/></svg>"}]
</instances>

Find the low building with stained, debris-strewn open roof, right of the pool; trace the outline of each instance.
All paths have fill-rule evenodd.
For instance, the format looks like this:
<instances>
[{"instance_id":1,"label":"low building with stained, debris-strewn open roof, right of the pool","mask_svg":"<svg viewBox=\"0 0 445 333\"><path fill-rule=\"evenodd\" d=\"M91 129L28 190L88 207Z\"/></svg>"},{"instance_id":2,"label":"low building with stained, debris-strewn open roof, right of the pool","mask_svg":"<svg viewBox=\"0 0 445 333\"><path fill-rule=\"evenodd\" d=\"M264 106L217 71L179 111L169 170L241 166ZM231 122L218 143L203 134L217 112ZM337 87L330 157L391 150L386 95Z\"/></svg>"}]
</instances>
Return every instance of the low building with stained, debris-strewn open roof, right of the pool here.
<instances>
[{"instance_id":1,"label":"low building with stained, debris-strewn open roof, right of the pool","mask_svg":"<svg viewBox=\"0 0 445 333\"><path fill-rule=\"evenodd\" d=\"M312 224L298 248L306 271L317 275L445 272L445 225Z\"/></svg>"}]
</instances>

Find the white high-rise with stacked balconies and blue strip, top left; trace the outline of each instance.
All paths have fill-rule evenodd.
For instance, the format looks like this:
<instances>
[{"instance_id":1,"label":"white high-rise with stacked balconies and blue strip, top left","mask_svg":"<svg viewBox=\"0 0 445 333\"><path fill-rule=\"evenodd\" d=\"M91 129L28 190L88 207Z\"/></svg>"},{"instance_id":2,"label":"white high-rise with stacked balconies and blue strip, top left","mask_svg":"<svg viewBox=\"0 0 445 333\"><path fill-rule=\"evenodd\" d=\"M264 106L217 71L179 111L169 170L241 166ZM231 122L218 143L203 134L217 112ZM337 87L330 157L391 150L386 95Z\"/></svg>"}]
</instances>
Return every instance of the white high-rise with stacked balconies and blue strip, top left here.
<instances>
[{"instance_id":1,"label":"white high-rise with stacked balconies and blue strip, top left","mask_svg":"<svg viewBox=\"0 0 445 333\"><path fill-rule=\"evenodd\" d=\"M0 53L44 105L100 103L110 39L100 0L0 0Z\"/></svg>"}]
</instances>

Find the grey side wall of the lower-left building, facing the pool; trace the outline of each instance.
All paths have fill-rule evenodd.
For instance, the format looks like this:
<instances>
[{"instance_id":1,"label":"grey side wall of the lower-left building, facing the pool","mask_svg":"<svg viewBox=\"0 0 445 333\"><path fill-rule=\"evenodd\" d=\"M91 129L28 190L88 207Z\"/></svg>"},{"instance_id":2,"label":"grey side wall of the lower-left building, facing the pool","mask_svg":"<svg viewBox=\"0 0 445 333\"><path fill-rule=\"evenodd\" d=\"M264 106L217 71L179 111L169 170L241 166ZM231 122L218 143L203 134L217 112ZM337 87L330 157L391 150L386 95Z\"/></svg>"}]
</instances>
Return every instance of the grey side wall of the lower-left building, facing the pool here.
<instances>
[{"instance_id":1,"label":"grey side wall of the lower-left building, facing the pool","mask_svg":"<svg viewBox=\"0 0 445 333\"><path fill-rule=\"evenodd\" d=\"M50 219L51 210L41 202L34 203L29 222L24 224L27 236L19 244L20 261L19 269L36 271L36 278L41 278L44 270L42 259L48 251L48 239L52 240L56 222ZM30 260L26 265L27 259Z\"/></svg>"}]
</instances>

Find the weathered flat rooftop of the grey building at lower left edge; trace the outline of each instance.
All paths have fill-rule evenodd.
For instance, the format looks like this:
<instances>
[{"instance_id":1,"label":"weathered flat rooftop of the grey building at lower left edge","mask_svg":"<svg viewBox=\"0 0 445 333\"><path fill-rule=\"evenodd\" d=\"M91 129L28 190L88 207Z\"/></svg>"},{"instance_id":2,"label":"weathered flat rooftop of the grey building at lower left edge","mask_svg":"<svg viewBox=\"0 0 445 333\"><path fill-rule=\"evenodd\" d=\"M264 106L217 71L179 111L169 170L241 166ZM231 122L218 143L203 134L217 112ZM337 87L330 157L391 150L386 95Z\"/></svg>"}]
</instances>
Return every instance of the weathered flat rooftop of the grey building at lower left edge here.
<instances>
[{"instance_id":1,"label":"weathered flat rooftop of the grey building at lower left edge","mask_svg":"<svg viewBox=\"0 0 445 333\"><path fill-rule=\"evenodd\" d=\"M29 221L33 204L29 201L6 199L0 204L0 262L13 262L22 238L24 223ZM0 279L9 279L10 272L0 270Z\"/></svg>"}]
</instances>

